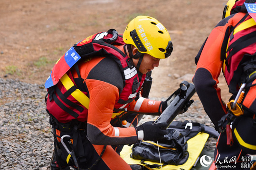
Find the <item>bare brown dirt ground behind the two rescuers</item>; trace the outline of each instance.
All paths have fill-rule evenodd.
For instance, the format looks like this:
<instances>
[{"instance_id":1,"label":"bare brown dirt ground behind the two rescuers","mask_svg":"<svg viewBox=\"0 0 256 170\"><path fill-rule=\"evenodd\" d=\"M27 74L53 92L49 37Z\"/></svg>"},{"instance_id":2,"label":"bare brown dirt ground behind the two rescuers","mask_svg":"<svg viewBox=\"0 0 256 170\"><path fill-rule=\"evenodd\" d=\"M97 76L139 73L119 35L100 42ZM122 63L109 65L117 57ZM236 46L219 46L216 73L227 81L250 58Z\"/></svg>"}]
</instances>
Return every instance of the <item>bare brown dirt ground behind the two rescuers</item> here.
<instances>
[{"instance_id":1,"label":"bare brown dirt ground behind the two rescuers","mask_svg":"<svg viewBox=\"0 0 256 170\"><path fill-rule=\"evenodd\" d=\"M130 20L147 15L167 28L174 45L171 57L152 73L150 97L168 97L182 80L191 82L194 57L227 1L0 0L0 77L44 84L74 43L111 28L123 34ZM226 87L223 78L219 86Z\"/></svg>"}]
</instances>

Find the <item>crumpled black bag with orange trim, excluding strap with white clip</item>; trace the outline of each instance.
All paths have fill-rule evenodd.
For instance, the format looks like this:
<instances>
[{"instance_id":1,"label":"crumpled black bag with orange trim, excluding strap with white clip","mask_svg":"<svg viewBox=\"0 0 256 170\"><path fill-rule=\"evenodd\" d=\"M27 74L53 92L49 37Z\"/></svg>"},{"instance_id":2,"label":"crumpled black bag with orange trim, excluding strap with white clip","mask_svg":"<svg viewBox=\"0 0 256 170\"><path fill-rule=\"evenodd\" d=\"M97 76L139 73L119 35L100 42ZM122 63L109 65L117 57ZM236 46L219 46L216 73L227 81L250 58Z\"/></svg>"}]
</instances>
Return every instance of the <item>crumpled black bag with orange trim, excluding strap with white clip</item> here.
<instances>
[{"instance_id":1,"label":"crumpled black bag with orange trim, excluding strap with white clip","mask_svg":"<svg viewBox=\"0 0 256 170\"><path fill-rule=\"evenodd\" d=\"M181 165L188 158L188 144L185 136L179 130L167 128L168 134L158 141L161 163ZM143 161L154 161L160 163L158 146L156 141L141 141L133 144L133 153L130 155L133 159Z\"/></svg>"}]
</instances>

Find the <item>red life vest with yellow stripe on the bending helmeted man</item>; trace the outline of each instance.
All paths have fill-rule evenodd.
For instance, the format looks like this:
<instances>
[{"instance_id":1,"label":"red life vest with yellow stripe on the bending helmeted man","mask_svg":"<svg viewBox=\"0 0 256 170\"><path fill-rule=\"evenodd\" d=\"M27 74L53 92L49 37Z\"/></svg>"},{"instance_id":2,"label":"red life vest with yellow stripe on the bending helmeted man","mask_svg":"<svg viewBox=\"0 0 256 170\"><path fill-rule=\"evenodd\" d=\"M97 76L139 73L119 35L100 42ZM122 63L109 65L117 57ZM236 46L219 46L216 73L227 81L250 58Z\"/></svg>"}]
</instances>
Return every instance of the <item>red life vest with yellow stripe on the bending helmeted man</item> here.
<instances>
[{"instance_id":1,"label":"red life vest with yellow stripe on the bending helmeted man","mask_svg":"<svg viewBox=\"0 0 256 170\"><path fill-rule=\"evenodd\" d=\"M110 33L114 33L113 35ZM141 77L141 81L133 62L122 51L112 44L123 45L123 38L118 36L115 30L101 32L85 38L73 46L76 50L76 55L82 59L89 59L95 56L111 57L120 66L123 75L124 87L119 99L114 105L114 116L121 114L127 107L127 104L132 102L136 96L139 96L140 89L145 79L145 74ZM75 54L74 54L75 55ZM65 54L62 58L65 58ZM74 57L74 56L72 56ZM65 59L59 59L54 68L59 68L65 64ZM67 123L73 119L85 122L87 120L89 98L83 83L77 84L71 74L71 68L76 69L78 76L80 75L77 64L59 78L55 79L57 83L53 83L47 88L47 112L53 115L59 122ZM51 77L58 77L57 69L53 69ZM57 76L56 76L57 75ZM60 77L60 76L59 76ZM49 80L47 79L47 81ZM55 85L54 85L55 84ZM113 117L114 117L113 116ZM112 117L112 118L113 118Z\"/></svg>"}]
</instances>

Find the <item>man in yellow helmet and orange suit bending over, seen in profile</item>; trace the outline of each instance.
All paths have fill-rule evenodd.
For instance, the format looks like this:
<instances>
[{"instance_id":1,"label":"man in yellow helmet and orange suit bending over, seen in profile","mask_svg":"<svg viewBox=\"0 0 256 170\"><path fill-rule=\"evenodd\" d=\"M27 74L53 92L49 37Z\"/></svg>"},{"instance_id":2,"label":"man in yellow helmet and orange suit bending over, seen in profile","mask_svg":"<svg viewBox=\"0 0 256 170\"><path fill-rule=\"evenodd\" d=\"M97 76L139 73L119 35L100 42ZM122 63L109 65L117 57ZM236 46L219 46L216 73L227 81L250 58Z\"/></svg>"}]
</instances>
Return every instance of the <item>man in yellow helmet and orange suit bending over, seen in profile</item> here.
<instances>
[{"instance_id":1,"label":"man in yellow helmet and orange suit bending over, seen in profile","mask_svg":"<svg viewBox=\"0 0 256 170\"><path fill-rule=\"evenodd\" d=\"M143 114L160 115L171 102L170 97L152 101L141 93L147 73L172 49L170 34L158 20L138 16L123 35L111 29L67 51L45 84L55 138L51 169L140 170L119 153L124 144L167 134L161 129L166 123L137 124Z\"/></svg>"}]
</instances>

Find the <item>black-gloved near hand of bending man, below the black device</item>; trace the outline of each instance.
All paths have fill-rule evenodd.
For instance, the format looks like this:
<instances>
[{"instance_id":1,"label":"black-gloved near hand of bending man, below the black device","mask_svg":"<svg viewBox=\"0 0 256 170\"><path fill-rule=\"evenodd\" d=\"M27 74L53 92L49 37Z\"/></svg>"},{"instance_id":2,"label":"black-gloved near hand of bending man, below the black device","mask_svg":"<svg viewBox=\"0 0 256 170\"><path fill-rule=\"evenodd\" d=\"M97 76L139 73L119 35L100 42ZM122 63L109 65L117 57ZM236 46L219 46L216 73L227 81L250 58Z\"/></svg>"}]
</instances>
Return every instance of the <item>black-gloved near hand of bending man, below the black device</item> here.
<instances>
[{"instance_id":1,"label":"black-gloved near hand of bending man, below the black device","mask_svg":"<svg viewBox=\"0 0 256 170\"><path fill-rule=\"evenodd\" d=\"M136 127L137 131L143 131L143 140L157 141L163 138L164 135L168 134L166 129L162 129L167 126L166 122L152 124L154 121L148 121L142 125Z\"/></svg>"}]
</instances>

